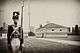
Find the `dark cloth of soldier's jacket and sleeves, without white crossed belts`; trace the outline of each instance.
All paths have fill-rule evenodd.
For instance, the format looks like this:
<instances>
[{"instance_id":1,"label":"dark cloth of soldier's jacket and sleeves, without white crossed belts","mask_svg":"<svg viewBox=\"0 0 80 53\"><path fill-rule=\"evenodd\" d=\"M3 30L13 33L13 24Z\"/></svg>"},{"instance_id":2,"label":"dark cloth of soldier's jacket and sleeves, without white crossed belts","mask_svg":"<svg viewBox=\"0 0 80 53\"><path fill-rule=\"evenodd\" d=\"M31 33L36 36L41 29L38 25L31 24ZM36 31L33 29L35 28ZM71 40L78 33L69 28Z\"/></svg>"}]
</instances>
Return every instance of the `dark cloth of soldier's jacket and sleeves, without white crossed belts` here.
<instances>
[{"instance_id":1,"label":"dark cloth of soldier's jacket and sleeves, without white crossed belts","mask_svg":"<svg viewBox=\"0 0 80 53\"><path fill-rule=\"evenodd\" d=\"M17 35L17 36L12 35L13 31L14 31L13 25L8 25L8 33L7 33L8 44L11 44L12 38L19 38L20 44L22 44L23 43L23 36L22 36L23 30L21 29L21 27L18 27L19 35Z\"/></svg>"}]
</instances>

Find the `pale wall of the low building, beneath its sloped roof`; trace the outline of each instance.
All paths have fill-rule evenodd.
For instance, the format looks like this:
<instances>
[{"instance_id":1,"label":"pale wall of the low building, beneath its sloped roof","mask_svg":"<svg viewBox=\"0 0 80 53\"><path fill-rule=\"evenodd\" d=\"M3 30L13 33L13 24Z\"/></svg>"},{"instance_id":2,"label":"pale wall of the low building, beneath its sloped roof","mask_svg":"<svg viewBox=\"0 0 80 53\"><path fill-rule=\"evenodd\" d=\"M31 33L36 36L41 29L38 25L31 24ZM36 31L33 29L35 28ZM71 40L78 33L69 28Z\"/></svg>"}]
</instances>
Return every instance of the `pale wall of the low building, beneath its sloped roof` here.
<instances>
[{"instance_id":1,"label":"pale wall of the low building, beneath its sloped roof","mask_svg":"<svg viewBox=\"0 0 80 53\"><path fill-rule=\"evenodd\" d=\"M52 31L52 29L54 29L54 31ZM62 31L60 31L60 29ZM44 37L67 37L69 30L67 28L42 28L36 32L36 37L42 37L42 33L44 33Z\"/></svg>"}]
</instances>

